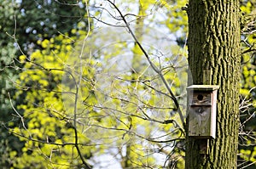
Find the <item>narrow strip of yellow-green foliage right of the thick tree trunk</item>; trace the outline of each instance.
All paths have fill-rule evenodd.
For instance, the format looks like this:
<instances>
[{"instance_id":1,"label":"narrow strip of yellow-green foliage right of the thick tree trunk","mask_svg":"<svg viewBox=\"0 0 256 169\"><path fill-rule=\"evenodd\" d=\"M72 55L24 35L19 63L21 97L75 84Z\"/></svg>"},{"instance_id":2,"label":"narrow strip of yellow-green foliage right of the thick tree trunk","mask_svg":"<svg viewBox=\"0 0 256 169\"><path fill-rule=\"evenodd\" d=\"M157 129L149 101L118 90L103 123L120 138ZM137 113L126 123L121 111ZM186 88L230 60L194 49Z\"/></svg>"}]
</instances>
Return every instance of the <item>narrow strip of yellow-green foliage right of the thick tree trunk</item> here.
<instances>
[{"instance_id":1,"label":"narrow strip of yellow-green foliage right of the thick tree trunk","mask_svg":"<svg viewBox=\"0 0 256 169\"><path fill-rule=\"evenodd\" d=\"M241 137L238 166L256 167L256 1L241 0ZM254 32L254 33L253 33Z\"/></svg>"}]
</instances>

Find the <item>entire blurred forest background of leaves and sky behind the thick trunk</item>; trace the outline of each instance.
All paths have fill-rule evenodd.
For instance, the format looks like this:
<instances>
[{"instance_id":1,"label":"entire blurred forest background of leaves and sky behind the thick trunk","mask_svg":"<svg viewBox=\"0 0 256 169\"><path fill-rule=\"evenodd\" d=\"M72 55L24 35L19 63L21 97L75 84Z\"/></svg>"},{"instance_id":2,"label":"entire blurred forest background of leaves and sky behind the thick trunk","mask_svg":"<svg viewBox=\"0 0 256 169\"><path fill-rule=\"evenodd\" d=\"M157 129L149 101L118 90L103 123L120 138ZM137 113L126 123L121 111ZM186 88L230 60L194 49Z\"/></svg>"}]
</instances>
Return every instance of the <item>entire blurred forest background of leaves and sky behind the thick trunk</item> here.
<instances>
[{"instance_id":1,"label":"entire blurred forest background of leaves and sky behind the thick trunk","mask_svg":"<svg viewBox=\"0 0 256 169\"><path fill-rule=\"evenodd\" d=\"M186 3L1 0L0 166L184 168ZM255 6L241 0L239 168L256 166Z\"/></svg>"}]
</instances>

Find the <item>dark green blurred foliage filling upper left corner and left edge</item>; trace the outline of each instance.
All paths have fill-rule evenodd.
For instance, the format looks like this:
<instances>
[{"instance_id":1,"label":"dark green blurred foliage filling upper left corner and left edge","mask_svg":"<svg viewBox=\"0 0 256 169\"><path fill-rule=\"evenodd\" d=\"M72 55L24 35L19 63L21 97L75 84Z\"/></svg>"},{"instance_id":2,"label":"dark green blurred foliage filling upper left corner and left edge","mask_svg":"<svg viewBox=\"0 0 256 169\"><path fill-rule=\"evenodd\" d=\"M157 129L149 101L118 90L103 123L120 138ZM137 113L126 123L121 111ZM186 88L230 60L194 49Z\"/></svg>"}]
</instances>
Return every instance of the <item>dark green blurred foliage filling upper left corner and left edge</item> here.
<instances>
[{"instance_id":1,"label":"dark green blurred foliage filling upper left corner and left edge","mask_svg":"<svg viewBox=\"0 0 256 169\"><path fill-rule=\"evenodd\" d=\"M73 3L73 5L70 5ZM22 53L32 54L40 39L49 39L60 33L70 32L72 29L86 27L84 5L75 5L77 1L42 1L0 0L0 166L9 168L13 161L9 159L9 152L15 150L18 155L23 143L10 135L7 127L13 121L17 104L24 102L24 96L12 99L9 95L16 93L15 81L20 73L22 64L17 60ZM79 27L78 22L84 22ZM20 46L20 48L18 48ZM22 113L22 111L20 112ZM17 125L12 123L12 125Z\"/></svg>"}]
</instances>

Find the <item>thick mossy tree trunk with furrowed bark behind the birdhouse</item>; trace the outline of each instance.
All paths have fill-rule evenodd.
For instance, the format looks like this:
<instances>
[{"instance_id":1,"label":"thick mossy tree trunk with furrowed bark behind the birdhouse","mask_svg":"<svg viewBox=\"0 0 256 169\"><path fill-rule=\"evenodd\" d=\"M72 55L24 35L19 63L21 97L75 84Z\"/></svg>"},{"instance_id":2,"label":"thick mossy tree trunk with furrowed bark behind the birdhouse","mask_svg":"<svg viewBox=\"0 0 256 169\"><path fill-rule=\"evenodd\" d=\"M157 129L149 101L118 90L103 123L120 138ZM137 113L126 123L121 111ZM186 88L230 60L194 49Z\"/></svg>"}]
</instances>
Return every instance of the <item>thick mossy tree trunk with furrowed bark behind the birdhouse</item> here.
<instances>
[{"instance_id":1,"label":"thick mossy tree trunk with furrowed bark behind the birdhouse","mask_svg":"<svg viewBox=\"0 0 256 169\"><path fill-rule=\"evenodd\" d=\"M205 140L191 138L187 132L186 169L236 168L241 58L239 0L190 0L187 10L189 67L193 76L189 85L219 85L219 90L216 138L209 139L207 154L201 155L200 144Z\"/></svg>"}]
</instances>

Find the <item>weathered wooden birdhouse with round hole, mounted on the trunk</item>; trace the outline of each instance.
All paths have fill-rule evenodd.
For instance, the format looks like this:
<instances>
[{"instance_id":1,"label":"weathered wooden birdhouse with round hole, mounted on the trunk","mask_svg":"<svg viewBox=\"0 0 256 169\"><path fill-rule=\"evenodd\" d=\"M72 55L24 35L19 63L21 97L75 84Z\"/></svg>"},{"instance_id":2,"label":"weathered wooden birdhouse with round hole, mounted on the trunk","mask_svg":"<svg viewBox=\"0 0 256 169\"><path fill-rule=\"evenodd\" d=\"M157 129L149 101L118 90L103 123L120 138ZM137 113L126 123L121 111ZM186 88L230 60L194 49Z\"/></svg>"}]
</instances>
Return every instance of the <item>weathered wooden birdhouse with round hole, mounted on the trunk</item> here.
<instances>
[{"instance_id":1,"label":"weathered wooden birdhouse with round hole, mounted on the trunk","mask_svg":"<svg viewBox=\"0 0 256 169\"><path fill-rule=\"evenodd\" d=\"M189 95L189 136L215 138L216 134L216 85L192 85Z\"/></svg>"}]
</instances>

